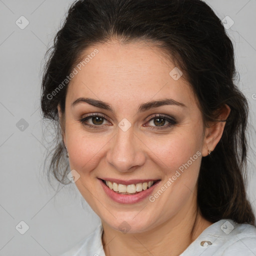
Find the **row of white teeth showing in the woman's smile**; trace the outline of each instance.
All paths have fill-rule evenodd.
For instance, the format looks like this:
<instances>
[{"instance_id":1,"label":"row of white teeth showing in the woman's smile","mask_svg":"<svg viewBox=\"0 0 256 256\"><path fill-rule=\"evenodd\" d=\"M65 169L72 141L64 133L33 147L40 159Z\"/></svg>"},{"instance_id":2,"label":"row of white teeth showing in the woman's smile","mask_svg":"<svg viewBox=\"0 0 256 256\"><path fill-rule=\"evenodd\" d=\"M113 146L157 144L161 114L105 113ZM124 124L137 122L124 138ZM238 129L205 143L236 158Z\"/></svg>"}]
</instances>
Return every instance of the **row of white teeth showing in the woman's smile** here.
<instances>
[{"instance_id":1,"label":"row of white teeth showing in the woman's smile","mask_svg":"<svg viewBox=\"0 0 256 256\"><path fill-rule=\"evenodd\" d=\"M149 187L153 186L156 182L159 181L157 180L151 180L147 182L140 182L140 183L134 183L134 184L118 184L109 180L104 180L101 179L103 183L111 190L118 194L137 194L143 190L148 189Z\"/></svg>"}]
</instances>

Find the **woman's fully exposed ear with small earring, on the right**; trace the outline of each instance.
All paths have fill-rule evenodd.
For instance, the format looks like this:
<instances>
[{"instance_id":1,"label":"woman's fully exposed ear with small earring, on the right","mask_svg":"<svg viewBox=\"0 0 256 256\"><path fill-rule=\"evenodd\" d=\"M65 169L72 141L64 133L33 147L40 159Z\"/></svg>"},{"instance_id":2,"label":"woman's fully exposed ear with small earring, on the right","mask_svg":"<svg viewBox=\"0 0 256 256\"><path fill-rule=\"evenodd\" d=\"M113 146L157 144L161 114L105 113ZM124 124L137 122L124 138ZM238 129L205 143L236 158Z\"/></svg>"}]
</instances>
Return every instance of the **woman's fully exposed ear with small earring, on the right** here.
<instances>
[{"instance_id":1,"label":"woman's fully exposed ear with small earring, on the right","mask_svg":"<svg viewBox=\"0 0 256 256\"><path fill-rule=\"evenodd\" d=\"M204 142L203 142L203 149L202 149L202 156L208 155L208 150L213 151L217 143L219 142L226 121L231 109L227 104L224 104L219 109L218 119L219 121L210 122L208 123L207 127L205 128L205 135L204 135Z\"/></svg>"}]
</instances>

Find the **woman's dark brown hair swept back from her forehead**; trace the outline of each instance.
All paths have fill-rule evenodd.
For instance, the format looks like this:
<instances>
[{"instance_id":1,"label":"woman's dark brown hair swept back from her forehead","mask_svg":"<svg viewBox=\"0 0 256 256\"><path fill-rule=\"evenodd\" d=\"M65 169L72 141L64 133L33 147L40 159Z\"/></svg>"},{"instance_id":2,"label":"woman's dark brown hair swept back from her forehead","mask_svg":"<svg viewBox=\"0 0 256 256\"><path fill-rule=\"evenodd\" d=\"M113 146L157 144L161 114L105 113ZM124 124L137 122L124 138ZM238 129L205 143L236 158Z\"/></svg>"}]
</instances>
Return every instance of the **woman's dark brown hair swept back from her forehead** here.
<instances>
[{"instance_id":1,"label":"woman's dark brown hair swept back from her forehead","mask_svg":"<svg viewBox=\"0 0 256 256\"><path fill-rule=\"evenodd\" d=\"M68 161L60 136L57 104L65 111L68 83L52 94L71 72L84 50L117 38L153 42L184 73L199 102L203 121L219 121L218 109L231 108L214 151L202 157L197 202L201 214L216 222L231 218L255 224L245 192L248 104L234 84L231 40L213 10L201 0L78 0L47 51L41 87L44 119L56 124L49 172L65 183Z\"/></svg>"}]
</instances>

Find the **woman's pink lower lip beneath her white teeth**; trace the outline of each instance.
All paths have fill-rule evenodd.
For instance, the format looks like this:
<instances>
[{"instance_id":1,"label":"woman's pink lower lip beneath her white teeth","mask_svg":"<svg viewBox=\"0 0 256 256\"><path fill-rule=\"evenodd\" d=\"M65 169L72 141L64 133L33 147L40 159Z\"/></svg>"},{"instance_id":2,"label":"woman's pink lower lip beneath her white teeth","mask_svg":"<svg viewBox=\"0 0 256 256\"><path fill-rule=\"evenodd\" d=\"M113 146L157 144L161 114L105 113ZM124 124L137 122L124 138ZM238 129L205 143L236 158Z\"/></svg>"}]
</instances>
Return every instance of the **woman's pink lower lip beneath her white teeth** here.
<instances>
[{"instance_id":1,"label":"woman's pink lower lip beneath her white teeth","mask_svg":"<svg viewBox=\"0 0 256 256\"><path fill-rule=\"evenodd\" d=\"M144 200L147 196L149 196L153 189L156 187L156 185L159 183L160 180L157 180L152 186L147 188L146 190L142 190L141 192L137 194L118 194L114 192L112 189L110 189L106 184L103 182L102 179L99 179L99 182L101 183L103 190L105 193L114 201L119 203L136 203Z\"/></svg>"}]
</instances>

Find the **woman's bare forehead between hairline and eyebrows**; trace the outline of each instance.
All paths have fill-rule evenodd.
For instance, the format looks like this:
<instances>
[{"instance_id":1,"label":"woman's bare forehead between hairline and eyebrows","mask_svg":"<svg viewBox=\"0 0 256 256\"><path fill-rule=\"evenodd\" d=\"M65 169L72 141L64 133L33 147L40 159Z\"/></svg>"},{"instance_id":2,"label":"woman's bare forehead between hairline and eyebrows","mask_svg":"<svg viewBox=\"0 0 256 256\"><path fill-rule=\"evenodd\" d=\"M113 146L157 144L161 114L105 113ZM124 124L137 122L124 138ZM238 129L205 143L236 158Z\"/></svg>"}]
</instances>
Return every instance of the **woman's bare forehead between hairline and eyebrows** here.
<instances>
[{"instance_id":1,"label":"woman's bare forehead between hairline and eyebrows","mask_svg":"<svg viewBox=\"0 0 256 256\"><path fill-rule=\"evenodd\" d=\"M175 65L159 48L145 42L96 44L87 48L81 59L86 61L75 67L77 74L68 85L67 101L86 96L112 104L118 100L138 104L170 97L191 105L195 100L188 82L170 75Z\"/></svg>"}]
</instances>

